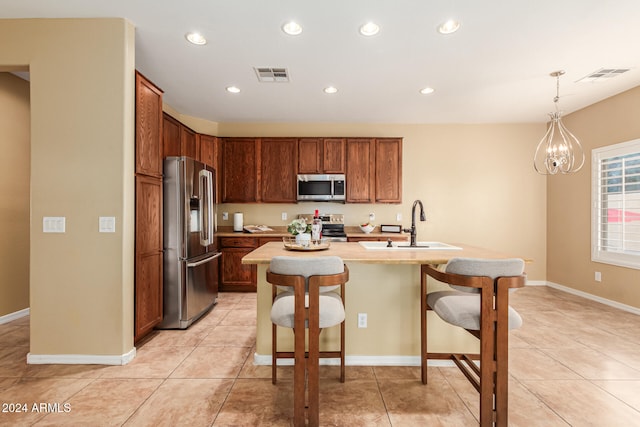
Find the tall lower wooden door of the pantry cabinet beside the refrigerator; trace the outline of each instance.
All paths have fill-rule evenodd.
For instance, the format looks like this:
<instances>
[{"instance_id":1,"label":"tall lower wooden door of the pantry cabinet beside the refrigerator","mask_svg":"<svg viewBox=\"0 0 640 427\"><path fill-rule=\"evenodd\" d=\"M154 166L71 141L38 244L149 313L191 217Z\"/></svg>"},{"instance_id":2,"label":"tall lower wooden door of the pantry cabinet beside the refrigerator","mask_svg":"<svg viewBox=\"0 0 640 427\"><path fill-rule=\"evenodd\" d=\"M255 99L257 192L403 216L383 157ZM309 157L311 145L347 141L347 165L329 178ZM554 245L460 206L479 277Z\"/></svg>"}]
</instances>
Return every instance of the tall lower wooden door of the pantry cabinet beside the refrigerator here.
<instances>
[{"instance_id":1,"label":"tall lower wooden door of the pantry cabinet beside the refrigerator","mask_svg":"<svg viewBox=\"0 0 640 427\"><path fill-rule=\"evenodd\" d=\"M136 176L134 339L162 320L162 178Z\"/></svg>"}]
</instances>

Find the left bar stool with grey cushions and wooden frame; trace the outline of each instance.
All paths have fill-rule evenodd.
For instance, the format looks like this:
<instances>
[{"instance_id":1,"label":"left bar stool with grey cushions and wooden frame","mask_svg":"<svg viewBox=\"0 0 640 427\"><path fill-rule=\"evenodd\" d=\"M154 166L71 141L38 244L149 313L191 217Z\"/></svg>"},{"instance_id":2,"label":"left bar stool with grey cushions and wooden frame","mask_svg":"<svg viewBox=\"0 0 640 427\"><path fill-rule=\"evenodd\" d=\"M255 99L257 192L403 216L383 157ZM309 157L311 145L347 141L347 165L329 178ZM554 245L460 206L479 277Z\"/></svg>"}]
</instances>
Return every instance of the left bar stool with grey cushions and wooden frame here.
<instances>
[{"instance_id":1,"label":"left bar stool with grey cushions and wooden frame","mask_svg":"<svg viewBox=\"0 0 640 427\"><path fill-rule=\"evenodd\" d=\"M272 284L272 382L277 381L277 359L294 358L294 425L305 425L305 373L308 376L309 425L319 425L319 358L340 358L340 381L344 382L344 300L349 269L340 257L276 256L267 270ZM336 290L340 293L336 293ZM340 325L339 351L320 351L323 328ZM278 351L278 326L292 328L294 351ZM305 335L309 330L309 350Z\"/></svg>"}]
</instances>

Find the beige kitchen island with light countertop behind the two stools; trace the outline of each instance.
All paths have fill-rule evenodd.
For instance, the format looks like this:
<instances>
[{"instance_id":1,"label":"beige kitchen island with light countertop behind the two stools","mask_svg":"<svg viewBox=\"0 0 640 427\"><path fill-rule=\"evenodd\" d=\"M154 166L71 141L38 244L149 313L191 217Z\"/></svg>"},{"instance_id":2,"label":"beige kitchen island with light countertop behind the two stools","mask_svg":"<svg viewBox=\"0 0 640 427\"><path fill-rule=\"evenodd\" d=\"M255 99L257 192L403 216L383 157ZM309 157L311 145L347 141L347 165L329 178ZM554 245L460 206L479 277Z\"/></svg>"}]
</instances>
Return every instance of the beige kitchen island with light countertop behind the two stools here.
<instances>
[{"instance_id":1,"label":"beige kitchen island with light countertop behind the two stools","mask_svg":"<svg viewBox=\"0 0 640 427\"><path fill-rule=\"evenodd\" d=\"M323 251L288 251L282 242L269 242L242 258L258 266L256 364L271 363L271 285L266 270L274 256L339 256L348 265L346 285L346 363L348 365L420 365L420 265L445 264L452 257L509 258L509 255L455 243L461 249L365 249L359 243L335 242ZM428 282L429 292L446 288ZM366 328L358 327L366 313ZM337 348L339 329L320 335L321 348ZM428 313L429 349L477 352L478 341ZM278 348L293 348L293 333L278 332Z\"/></svg>"}]
</instances>

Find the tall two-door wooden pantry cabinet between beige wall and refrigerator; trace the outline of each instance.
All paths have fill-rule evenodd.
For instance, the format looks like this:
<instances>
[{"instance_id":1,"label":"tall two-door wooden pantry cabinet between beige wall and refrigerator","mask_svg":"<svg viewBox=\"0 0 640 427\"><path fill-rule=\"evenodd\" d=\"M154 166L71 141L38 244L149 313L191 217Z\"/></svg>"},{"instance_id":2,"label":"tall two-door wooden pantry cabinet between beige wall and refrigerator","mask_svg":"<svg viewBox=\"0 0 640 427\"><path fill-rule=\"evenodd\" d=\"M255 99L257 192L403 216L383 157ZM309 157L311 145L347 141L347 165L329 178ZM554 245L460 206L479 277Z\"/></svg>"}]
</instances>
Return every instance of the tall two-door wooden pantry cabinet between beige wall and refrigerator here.
<instances>
[{"instance_id":1,"label":"tall two-door wooden pantry cabinet between beige wall and refrigerator","mask_svg":"<svg viewBox=\"0 0 640 427\"><path fill-rule=\"evenodd\" d=\"M162 90L136 72L134 341L162 320Z\"/></svg>"}]
</instances>

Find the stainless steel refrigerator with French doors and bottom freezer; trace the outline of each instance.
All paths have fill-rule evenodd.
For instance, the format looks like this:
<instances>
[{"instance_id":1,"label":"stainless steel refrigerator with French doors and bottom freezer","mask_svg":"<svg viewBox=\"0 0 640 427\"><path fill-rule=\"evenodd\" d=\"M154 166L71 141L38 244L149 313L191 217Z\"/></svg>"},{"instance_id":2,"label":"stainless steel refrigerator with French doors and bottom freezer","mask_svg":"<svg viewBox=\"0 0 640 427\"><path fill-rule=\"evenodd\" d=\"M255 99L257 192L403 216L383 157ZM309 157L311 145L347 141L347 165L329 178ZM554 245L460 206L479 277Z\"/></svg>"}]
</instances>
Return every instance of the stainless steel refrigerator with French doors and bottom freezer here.
<instances>
[{"instance_id":1,"label":"stainless steel refrigerator with French doors and bottom freezer","mask_svg":"<svg viewBox=\"0 0 640 427\"><path fill-rule=\"evenodd\" d=\"M188 157L164 161L164 294L160 329L186 329L218 300L215 171Z\"/></svg>"}]
</instances>

